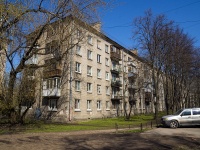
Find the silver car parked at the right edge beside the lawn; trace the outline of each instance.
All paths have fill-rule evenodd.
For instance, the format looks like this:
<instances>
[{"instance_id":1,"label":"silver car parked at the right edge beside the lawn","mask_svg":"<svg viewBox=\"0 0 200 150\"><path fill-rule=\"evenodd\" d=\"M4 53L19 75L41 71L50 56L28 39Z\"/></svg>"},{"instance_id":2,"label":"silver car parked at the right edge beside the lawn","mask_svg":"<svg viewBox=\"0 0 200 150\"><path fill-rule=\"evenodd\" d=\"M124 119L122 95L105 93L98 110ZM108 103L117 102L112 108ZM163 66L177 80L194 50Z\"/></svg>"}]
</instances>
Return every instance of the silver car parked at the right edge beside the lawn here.
<instances>
[{"instance_id":1,"label":"silver car parked at the right edge beside the lawn","mask_svg":"<svg viewBox=\"0 0 200 150\"><path fill-rule=\"evenodd\" d=\"M180 109L174 115L163 116L161 123L171 128L200 125L200 108Z\"/></svg>"}]
</instances>

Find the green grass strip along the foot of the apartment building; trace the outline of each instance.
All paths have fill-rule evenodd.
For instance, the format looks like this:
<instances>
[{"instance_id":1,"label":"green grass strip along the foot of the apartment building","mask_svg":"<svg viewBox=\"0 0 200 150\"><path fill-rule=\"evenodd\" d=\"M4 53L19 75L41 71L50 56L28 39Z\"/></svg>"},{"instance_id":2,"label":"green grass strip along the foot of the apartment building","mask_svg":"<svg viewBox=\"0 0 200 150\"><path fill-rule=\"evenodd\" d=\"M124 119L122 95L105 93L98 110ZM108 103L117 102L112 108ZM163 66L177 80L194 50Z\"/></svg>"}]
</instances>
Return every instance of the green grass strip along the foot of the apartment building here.
<instances>
[{"instance_id":1,"label":"green grass strip along the foot of the apartment building","mask_svg":"<svg viewBox=\"0 0 200 150\"><path fill-rule=\"evenodd\" d=\"M73 123L44 123L37 121L25 125L16 125L11 128L0 128L0 134L17 132L69 132L80 130L103 130L117 128L140 127L141 123L145 126L153 120L153 115L135 115L130 120L119 118L105 118L77 121Z\"/></svg>"}]
</instances>

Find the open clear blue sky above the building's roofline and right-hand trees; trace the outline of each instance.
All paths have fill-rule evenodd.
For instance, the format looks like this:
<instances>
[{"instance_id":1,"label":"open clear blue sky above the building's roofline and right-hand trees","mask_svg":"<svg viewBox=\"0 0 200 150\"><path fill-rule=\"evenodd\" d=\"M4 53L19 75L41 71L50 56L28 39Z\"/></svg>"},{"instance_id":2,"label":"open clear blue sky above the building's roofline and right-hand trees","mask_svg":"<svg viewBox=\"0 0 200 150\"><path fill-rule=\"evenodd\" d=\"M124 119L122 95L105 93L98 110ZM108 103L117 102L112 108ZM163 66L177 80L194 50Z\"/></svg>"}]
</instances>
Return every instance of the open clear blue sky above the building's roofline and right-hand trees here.
<instances>
[{"instance_id":1,"label":"open clear blue sky above the building's roofline and right-hand trees","mask_svg":"<svg viewBox=\"0 0 200 150\"><path fill-rule=\"evenodd\" d=\"M184 33L195 38L195 47L200 47L200 0L115 0L101 12L102 31L125 48L138 49L131 39L131 24L149 9L155 16L164 14L173 20Z\"/></svg>"}]
</instances>

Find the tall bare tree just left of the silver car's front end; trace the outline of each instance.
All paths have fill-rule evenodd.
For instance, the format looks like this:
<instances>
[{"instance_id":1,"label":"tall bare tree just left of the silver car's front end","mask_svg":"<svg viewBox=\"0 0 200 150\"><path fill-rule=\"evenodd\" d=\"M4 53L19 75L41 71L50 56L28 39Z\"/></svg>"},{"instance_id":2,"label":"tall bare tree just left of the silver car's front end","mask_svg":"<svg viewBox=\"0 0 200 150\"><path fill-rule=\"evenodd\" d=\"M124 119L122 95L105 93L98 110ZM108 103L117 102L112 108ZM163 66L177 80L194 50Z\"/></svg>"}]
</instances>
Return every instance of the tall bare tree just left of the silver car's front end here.
<instances>
[{"instance_id":1,"label":"tall bare tree just left of the silver car's front end","mask_svg":"<svg viewBox=\"0 0 200 150\"><path fill-rule=\"evenodd\" d=\"M134 21L134 25L136 26L134 38L138 40L142 50L146 51L146 58L152 69L156 119L158 117L159 84L161 83L160 76L164 59L163 49L166 44L164 31L171 27L172 22L163 15L154 17L151 11L147 11L144 17L139 17Z\"/></svg>"}]
</instances>

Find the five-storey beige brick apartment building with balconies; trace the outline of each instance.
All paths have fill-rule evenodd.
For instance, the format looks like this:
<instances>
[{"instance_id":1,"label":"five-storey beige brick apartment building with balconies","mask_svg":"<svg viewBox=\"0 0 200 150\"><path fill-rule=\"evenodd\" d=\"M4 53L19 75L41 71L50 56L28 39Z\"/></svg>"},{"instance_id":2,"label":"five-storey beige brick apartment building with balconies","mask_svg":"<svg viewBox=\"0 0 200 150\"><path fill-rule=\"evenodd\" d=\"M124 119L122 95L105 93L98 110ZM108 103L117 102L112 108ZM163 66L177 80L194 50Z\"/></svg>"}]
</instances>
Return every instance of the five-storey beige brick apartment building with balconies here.
<instances>
[{"instance_id":1,"label":"five-storey beige brick apartment building with balconies","mask_svg":"<svg viewBox=\"0 0 200 150\"><path fill-rule=\"evenodd\" d=\"M137 51L101 33L99 23L75 19L70 27L68 40L47 30L38 41L43 55L29 63L46 67L35 71L36 102L30 112L40 108L42 117L55 121L116 117L130 109L132 114L152 112L151 71Z\"/></svg>"}]
</instances>

